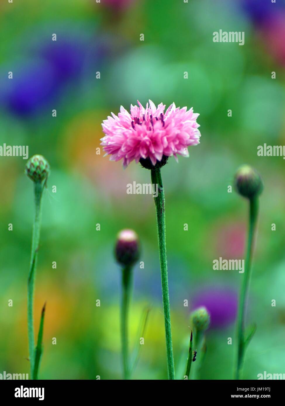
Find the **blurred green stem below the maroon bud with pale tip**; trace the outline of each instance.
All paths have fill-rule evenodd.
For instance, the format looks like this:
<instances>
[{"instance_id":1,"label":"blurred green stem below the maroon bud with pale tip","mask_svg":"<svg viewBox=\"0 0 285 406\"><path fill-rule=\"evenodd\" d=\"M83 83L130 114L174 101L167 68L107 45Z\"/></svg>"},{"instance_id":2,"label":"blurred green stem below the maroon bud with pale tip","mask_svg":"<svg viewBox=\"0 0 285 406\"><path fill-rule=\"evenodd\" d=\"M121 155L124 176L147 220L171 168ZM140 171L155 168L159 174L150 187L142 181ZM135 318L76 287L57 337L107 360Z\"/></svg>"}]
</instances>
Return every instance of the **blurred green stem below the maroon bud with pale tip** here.
<instances>
[{"instance_id":1,"label":"blurred green stem below the maroon bud with pale tip","mask_svg":"<svg viewBox=\"0 0 285 406\"><path fill-rule=\"evenodd\" d=\"M128 311L131 301L133 272L131 267L126 266L122 270L122 311L121 311L121 338L122 338L122 360L124 379L130 379L130 364L128 351Z\"/></svg>"}]
</instances>

